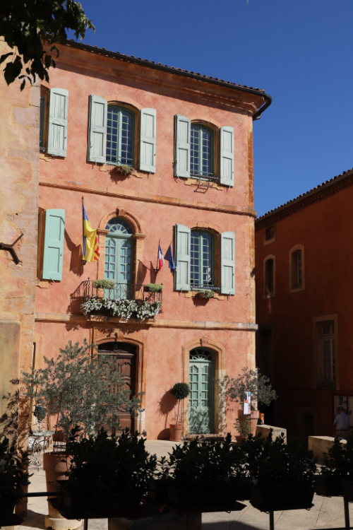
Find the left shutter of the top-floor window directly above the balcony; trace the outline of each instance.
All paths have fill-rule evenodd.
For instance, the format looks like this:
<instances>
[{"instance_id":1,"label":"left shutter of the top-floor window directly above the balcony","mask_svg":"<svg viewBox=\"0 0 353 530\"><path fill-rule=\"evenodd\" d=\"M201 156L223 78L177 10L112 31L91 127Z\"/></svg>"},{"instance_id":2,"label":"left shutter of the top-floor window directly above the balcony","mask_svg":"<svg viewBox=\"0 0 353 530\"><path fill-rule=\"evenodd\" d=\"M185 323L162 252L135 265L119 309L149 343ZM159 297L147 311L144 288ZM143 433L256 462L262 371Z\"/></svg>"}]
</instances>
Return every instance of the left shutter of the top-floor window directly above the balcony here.
<instances>
[{"instance_id":1,"label":"left shutter of the top-floor window directly above the balcony","mask_svg":"<svg viewBox=\"0 0 353 530\"><path fill-rule=\"evenodd\" d=\"M88 161L105 164L107 147L108 102L99 95L90 95L88 123Z\"/></svg>"}]
</instances>

